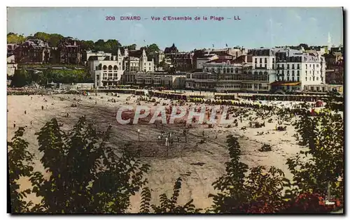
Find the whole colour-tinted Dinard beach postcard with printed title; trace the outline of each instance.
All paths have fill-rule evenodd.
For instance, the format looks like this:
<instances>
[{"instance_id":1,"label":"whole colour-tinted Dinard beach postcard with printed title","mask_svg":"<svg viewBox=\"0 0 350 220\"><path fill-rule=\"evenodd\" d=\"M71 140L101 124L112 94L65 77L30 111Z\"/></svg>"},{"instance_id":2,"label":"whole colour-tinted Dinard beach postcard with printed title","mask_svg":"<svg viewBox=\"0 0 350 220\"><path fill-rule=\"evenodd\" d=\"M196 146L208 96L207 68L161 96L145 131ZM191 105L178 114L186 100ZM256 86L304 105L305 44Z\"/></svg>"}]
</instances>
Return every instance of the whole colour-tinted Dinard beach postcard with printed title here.
<instances>
[{"instance_id":1,"label":"whole colour-tinted Dinard beach postcard with printed title","mask_svg":"<svg viewBox=\"0 0 350 220\"><path fill-rule=\"evenodd\" d=\"M8 7L8 212L344 213L343 16Z\"/></svg>"}]
</instances>

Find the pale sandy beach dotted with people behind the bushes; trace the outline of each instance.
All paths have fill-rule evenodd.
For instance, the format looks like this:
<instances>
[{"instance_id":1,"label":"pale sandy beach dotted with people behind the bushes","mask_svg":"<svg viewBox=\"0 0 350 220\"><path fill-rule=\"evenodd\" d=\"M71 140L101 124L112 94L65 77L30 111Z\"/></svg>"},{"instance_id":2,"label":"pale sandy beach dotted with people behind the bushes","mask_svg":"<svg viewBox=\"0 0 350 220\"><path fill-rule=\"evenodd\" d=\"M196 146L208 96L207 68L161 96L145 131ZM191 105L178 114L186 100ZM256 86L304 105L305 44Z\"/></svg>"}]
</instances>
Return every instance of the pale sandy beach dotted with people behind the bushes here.
<instances>
[{"instance_id":1,"label":"pale sandy beach dotted with people behind the bushes","mask_svg":"<svg viewBox=\"0 0 350 220\"><path fill-rule=\"evenodd\" d=\"M64 98L63 101L60 97ZM102 98L103 97L103 98ZM125 146L127 142L136 143L131 147L141 147L140 159L144 163L151 165L151 170L146 174L148 178L148 186L151 189L151 203L159 204L159 195L167 193L172 194L174 182L178 177L183 179L182 189L179 196L179 204L184 204L188 200L193 199L196 207L206 208L211 205L211 199L207 198L209 193L214 193L211 183L225 173L225 162L228 161L228 148L226 145L226 136L234 135L239 139L243 155L241 161L248 166L275 166L280 168L286 174L287 178L291 178L286 160L295 156L302 149L297 145L293 135L295 130L288 122L286 131L275 131L276 115L272 117L272 123L268 123L267 117L265 127L249 128L248 117L239 120L238 126L225 128L225 125L214 125L209 129L208 125L195 125L189 130L188 142L181 138L183 142L175 142L169 147L168 152L164 143L158 143L157 137L160 134L159 127L155 124L132 124L120 125L116 123L114 113L126 102L130 105L137 105L136 99L139 96L131 98L127 101L130 94L120 94L120 97L106 94L92 94L91 96L79 95L52 95L52 96L8 96L8 140L13 137L15 129L19 126L27 126L25 138L29 142L29 151L35 155L35 170L43 173L43 166L39 159L42 154L38 152L38 142L36 133L48 120L55 117L59 123L62 123L62 129L68 130L78 121L78 118L85 115L87 120L94 120L94 124L100 131L106 131L109 124L113 127L111 135L111 145L116 150ZM76 101L80 98L80 101ZM115 98L116 103L109 102L109 98ZM74 100L76 99L76 100ZM46 100L46 101L45 101ZM170 103L169 100L157 98L162 103ZM95 103L97 102L97 103ZM75 103L77 107L71 107ZM141 105L153 105L141 101ZM41 106L44 107L41 110ZM25 111L27 114L25 114ZM69 113L69 118L66 117ZM252 118L255 117L255 111L248 112ZM31 124L32 122L32 124ZM241 130L242 126L246 126L246 130ZM138 142L137 129L140 129L140 140ZM183 126L165 125L164 131L171 131L174 135L183 131ZM204 135L203 135L204 131ZM262 135L257 135L263 132ZM202 144L198 144L202 140ZM258 149L264 143L272 145L272 151L259 152ZM150 150L151 149L151 150ZM154 156L151 152L155 152ZM30 187L26 179L20 180L22 189ZM38 203L40 200L34 195L30 195L28 200ZM139 211L139 203L141 201L140 193L132 196L132 207L130 212Z\"/></svg>"}]
</instances>

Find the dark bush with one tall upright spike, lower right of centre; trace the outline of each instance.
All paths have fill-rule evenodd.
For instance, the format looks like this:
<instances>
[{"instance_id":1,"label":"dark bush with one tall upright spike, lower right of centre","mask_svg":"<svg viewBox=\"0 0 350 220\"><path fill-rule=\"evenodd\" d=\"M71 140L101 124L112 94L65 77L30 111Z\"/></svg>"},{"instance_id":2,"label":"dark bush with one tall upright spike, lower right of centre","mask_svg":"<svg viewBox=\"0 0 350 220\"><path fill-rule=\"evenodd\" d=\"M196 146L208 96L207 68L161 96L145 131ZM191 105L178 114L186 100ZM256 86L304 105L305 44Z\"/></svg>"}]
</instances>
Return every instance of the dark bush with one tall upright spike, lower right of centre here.
<instances>
[{"instance_id":1,"label":"dark bush with one tall upright spike, lower right of centre","mask_svg":"<svg viewBox=\"0 0 350 220\"><path fill-rule=\"evenodd\" d=\"M214 213L273 213L281 212L286 201L283 200L283 187L289 181L281 170L258 166L248 169L239 161L241 149L237 138L228 136L230 161L226 163L226 174L213 183L219 192L209 194L213 198L210 212ZM246 175L246 173L249 173Z\"/></svg>"}]
</instances>

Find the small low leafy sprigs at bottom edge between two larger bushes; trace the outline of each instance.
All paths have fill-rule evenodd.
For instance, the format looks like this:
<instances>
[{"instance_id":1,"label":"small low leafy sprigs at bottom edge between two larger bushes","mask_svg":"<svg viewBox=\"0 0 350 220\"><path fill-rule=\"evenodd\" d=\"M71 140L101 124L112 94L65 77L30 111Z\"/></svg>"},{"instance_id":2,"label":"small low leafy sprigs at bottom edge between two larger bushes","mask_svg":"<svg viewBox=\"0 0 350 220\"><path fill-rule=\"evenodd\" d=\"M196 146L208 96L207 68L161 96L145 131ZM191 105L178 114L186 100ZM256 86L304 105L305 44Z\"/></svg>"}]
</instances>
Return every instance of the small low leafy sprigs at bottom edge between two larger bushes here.
<instances>
[{"instance_id":1,"label":"small low leafy sprigs at bottom edge between two larger bushes","mask_svg":"<svg viewBox=\"0 0 350 220\"><path fill-rule=\"evenodd\" d=\"M179 192L181 189L182 179L179 177L174 184L174 192L171 198L167 198L167 195L163 193L160 195L160 205L151 205L153 212L155 213L198 213L201 209L196 209L193 205L193 199L185 205L177 205L177 199L179 198ZM150 201L151 191L148 187L142 189L141 193L141 213L150 213Z\"/></svg>"}]
</instances>

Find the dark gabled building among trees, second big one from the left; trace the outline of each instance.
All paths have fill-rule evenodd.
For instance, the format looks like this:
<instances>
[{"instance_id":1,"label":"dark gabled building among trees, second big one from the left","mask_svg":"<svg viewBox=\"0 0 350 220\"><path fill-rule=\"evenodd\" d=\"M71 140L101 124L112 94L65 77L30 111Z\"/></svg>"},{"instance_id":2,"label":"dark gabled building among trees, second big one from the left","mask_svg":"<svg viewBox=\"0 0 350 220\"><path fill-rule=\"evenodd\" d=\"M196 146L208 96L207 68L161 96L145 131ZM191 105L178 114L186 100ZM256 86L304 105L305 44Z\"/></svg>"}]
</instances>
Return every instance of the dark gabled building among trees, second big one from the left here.
<instances>
[{"instance_id":1,"label":"dark gabled building among trees, second big one from the left","mask_svg":"<svg viewBox=\"0 0 350 220\"><path fill-rule=\"evenodd\" d=\"M83 51L77 39L63 38L58 45L59 62L61 64L80 64Z\"/></svg>"}]
</instances>

